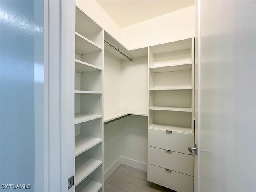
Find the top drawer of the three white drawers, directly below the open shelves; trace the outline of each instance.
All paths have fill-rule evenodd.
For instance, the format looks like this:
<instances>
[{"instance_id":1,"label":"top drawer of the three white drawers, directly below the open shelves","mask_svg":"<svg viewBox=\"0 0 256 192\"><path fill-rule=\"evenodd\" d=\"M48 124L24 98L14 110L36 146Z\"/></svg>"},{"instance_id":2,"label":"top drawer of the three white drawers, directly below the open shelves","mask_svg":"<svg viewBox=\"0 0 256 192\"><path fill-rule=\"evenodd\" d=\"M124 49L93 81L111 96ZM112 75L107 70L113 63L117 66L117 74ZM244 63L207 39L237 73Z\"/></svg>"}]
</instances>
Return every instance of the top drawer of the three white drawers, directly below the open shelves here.
<instances>
[{"instance_id":1,"label":"top drawer of the three white drawers, directly below the open shelves","mask_svg":"<svg viewBox=\"0 0 256 192\"><path fill-rule=\"evenodd\" d=\"M148 146L189 154L188 147L194 146L194 135L148 129Z\"/></svg>"}]
</instances>

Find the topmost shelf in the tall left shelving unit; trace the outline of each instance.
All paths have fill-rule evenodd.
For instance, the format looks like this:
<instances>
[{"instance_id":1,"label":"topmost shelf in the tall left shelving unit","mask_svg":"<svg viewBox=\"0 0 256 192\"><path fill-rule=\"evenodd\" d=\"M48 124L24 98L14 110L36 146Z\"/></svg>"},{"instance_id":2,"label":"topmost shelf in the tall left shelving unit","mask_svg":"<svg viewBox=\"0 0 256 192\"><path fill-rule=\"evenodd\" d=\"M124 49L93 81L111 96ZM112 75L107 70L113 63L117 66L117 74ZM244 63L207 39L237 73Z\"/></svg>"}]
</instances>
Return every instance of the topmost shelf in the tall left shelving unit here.
<instances>
[{"instance_id":1,"label":"topmost shelf in the tall left shelving unit","mask_svg":"<svg viewBox=\"0 0 256 192\"><path fill-rule=\"evenodd\" d=\"M102 47L98 46L96 43L90 41L89 39L85 38L84 36L80 35L79 33L76 34L76 54L83 55L92 52L96 52L102 50Z\"/></svg>"}]
</instances>

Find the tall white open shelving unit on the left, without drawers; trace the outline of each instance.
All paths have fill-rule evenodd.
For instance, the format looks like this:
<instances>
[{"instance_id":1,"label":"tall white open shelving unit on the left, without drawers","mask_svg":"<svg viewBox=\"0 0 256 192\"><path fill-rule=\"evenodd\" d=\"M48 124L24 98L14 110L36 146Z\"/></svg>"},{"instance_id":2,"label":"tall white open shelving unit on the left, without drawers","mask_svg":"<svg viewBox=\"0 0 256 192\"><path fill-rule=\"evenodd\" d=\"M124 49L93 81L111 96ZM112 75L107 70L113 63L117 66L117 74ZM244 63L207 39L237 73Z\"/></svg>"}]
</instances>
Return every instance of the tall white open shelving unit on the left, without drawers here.
<instances>
[{"instance_id":1,"label":"tall white open shelving unit on the left, without drawers","mask_svg":"<svg viewBox=\"0 0 256 192\"><path fill-rule=\"evenodd\" d=\"M103 191L103 40L103 29L76 6L76 192Z\"/></svg>"}]
</instances>

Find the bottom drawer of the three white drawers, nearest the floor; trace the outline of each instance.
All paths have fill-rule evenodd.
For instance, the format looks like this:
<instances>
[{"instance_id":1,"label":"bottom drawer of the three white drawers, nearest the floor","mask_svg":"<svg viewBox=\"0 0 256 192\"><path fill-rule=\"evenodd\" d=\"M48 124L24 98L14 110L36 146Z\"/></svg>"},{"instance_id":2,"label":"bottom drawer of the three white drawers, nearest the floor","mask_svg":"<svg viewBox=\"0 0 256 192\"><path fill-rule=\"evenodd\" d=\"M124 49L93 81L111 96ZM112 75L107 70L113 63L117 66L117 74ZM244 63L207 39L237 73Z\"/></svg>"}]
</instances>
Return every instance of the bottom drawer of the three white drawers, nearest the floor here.
<instances>
[{"instance_id":1,"label":"bottom drawer of the three white drawers, nearest the floor","mask_svg":"<svg viewBox=\"0 0 256 192\"><path fill-rule=\"evenodd\" d=\"M193 177L148 164L148 181L178 192L193 192Z\"/></svg>"}]
</instances>

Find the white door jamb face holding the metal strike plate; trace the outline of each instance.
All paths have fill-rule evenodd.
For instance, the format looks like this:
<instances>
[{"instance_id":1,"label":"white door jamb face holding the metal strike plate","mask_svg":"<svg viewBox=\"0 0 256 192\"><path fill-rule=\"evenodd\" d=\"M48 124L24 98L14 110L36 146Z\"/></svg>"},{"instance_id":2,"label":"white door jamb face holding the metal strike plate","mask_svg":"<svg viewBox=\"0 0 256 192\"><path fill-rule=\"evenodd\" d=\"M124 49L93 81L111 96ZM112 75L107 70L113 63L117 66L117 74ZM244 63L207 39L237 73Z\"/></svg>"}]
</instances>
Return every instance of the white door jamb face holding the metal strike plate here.
<instances>
[{"instance_id":1,"label":"white door jamb face holding the metal strike plate","mask_svg":"<svg viewBox=\"0 0 256 192\"><path fill-rule=\"evenodd\" d=\"M68 178L75 174L74 142L74 59L75 1L61 1L61 63L60 63L60 145L61 192L68 190Z\"/></svg>"}]
</instances>

